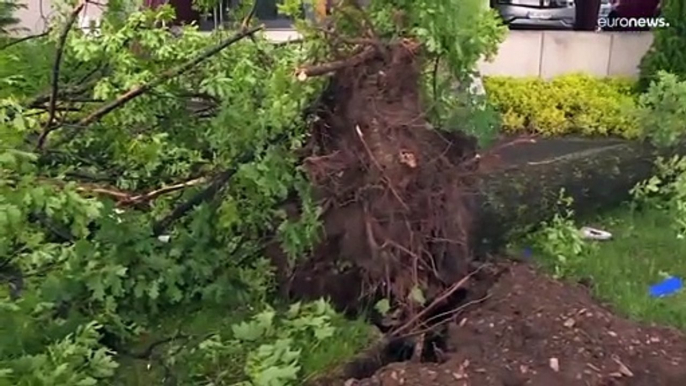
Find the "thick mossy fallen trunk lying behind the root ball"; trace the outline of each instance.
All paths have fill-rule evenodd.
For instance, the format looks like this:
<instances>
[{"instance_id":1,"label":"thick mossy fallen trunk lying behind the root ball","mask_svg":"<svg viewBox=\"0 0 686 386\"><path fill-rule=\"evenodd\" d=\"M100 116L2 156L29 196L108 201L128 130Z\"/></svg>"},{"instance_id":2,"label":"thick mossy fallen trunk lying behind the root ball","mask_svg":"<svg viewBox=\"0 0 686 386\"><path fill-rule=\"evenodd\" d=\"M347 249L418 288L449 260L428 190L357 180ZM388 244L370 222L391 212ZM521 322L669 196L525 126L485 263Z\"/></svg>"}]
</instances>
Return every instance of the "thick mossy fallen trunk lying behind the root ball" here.
<instances>
[{"instance_id":1,"label":"thick mossy fallen trunk lying behind the root ball","mask_svg":"<svg viewBox=\"0 0 686 386\"><path fill-rule=\"evenodd\" d=\"M571 140L570 147L572 141L579 140ZM538 145L523 147L521 152ZM657 155L648 143L615 141L486 172L478 184L481 209L475 246L480 251L497 250L513 233L560 213L564 210L562 190L565 197L573 199L571 209L577 215L617 206L630 198L629 191L636 183L651 176Z\"/></svg>"}]
</instances>

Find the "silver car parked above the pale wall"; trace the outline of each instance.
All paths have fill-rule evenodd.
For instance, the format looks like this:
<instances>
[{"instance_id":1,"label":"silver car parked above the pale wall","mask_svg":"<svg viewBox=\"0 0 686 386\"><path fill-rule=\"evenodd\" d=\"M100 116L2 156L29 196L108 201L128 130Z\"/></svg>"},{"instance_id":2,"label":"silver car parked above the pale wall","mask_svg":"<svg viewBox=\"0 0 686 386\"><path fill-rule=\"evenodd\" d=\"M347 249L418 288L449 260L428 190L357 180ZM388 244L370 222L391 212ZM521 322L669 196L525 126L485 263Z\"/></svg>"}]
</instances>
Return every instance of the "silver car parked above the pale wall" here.
<instances>
[{"instance_id":1,"label":"silver car parked above the pale wall","mask_svg":"<svg viewBox=\"0 0 686 386\"><path fill-rule=\"evenodd\" d=\"M568 29L576 21L574 0L493 0L491 6L513 27ZM598 18L611 11L611 0L601 0Z\"/></svg>"}]
</instances>

